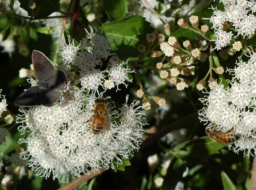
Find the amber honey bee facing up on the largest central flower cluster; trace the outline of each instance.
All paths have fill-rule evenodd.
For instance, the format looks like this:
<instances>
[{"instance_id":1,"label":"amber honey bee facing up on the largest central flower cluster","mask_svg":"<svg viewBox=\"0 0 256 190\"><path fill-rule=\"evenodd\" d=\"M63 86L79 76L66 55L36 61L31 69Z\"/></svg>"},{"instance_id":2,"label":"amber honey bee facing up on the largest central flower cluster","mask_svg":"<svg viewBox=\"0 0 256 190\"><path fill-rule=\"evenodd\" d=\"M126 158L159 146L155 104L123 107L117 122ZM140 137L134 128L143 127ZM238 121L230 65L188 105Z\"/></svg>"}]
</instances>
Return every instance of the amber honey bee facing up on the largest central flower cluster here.
<instances>
[{"instance_id":1,"label":"amber honey bee facing up on the largest central flower cluster","mask_svg":"<svg viewBox=\"0 0 256 190\"><path fill-rule=\"evenodd\" d=\"M93 105L94 115L92 123L92 131L97 134L102 131L103 127L106 131L109 131L109 117L107 112L107 104L103 98L97 98ZM91 117L91 119L92 119ZM89 120L91 120L89 119ZM88 120L88 121L89 121Z\"/></svg>"}]
</instances>

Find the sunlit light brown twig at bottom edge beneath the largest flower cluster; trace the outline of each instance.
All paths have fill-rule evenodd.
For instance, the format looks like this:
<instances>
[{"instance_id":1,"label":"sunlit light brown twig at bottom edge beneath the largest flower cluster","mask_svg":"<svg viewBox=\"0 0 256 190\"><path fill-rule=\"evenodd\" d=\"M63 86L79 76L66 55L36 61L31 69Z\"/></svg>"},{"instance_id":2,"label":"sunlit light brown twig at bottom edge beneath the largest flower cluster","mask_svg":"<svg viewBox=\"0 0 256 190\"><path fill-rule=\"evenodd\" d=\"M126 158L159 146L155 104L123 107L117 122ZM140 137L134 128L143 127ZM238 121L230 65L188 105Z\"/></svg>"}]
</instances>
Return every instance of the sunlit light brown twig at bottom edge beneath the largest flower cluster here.
<instances>
[{"instance_id":1,"label":"sunlit light brown twig at bottom edge beneath the largest flower cluster","mask_svg":"<svg viewBox=\"0 0 256 190\"><path fill-rule=\"evenodd\" d=\"M106 171L106 168L104 168L104 167L101 168L100 170L96 171L96 172L90 171L89 175L84 174L81 177L79 177L79 178L71 181L70 183L66 184L62 188L59 188L58 190L71 190L73 188L76 188L78 185L84 183L85 181L88 181L88 180L92 179L95 176L100 175L101 173L103 173L105 171Z\"/></svg>"}]
</instances>

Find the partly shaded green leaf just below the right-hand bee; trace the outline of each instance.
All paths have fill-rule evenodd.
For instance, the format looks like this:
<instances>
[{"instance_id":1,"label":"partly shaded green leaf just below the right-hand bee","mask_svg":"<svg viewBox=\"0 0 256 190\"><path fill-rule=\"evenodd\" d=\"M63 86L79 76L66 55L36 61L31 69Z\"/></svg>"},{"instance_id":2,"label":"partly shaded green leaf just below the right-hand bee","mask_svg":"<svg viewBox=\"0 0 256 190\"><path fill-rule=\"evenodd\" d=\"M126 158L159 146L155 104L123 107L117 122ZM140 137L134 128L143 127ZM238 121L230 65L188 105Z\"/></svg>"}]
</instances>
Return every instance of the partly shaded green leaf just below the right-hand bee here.
<instances>
[{"instance_id":1,"label":"partly shaded green leaf just below the right-hand bee","mask_svg":"<svg viewBox=\"0 0 256 190\"><path fill-rule=\"evenodd\" d=\"M188 162L207 162L208 156L219 154L223 145L212 141L208 136L188 140L178 144L170 152L173 156Z\"/></svg>"}]
</instances>

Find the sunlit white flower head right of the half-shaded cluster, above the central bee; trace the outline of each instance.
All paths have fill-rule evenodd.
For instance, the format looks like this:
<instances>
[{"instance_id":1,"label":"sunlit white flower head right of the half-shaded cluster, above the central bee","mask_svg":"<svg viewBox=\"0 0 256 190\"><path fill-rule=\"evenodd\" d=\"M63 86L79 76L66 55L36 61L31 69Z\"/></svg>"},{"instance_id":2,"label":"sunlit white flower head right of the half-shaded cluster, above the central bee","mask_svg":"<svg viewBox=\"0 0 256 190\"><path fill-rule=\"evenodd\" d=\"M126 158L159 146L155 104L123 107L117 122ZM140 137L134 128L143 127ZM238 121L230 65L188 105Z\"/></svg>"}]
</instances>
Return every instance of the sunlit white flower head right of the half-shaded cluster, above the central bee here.
<instances>
[{"instance_id":1,"label":"sunlit white flower head right of the half-shaded cluster, above the central bee","mask_svg":"<svg viewBox=\"0 0 256 190\"><path fill-rule=\"evenodd\" d=\"M133 70L129 69L128 67L124 67L123 65L126 64L127 62L123 62L120 64L115 64L113 65L108 73L109 73L109 80L112 80L115 85L117 86L117 90L119 90L118 85L119 84L124 84L127 87L127 84L125 81L131 82L132 79L128 78L128 73L134 73Z\"/></svg>"}]
</instances>

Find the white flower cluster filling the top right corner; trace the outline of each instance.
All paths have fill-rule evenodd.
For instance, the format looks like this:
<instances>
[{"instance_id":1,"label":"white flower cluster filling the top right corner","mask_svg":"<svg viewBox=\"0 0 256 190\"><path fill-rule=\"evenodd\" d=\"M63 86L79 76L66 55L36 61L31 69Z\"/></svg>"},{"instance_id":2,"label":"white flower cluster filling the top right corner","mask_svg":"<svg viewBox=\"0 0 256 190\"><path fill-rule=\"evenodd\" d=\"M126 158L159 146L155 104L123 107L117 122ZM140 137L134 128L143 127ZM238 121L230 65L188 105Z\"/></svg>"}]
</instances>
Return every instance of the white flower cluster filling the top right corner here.
<instances>
[{"instance_id":1,"label":"white flower cluster filling the top right corner","mask_svg":"<svg viewBox=\"0 0 256 190\"><path fill-rule=\"evenodd\" d=\"M209 19L215 30L216 44L214 49L220 50L230 43L232 36L235 38L242 35L243 38L250 38L256 29L256 4L254 0L220 0L224 4L224 11L213 8L213 15ZM227 22L225 24L225 22ZM236 32L227 32L226 26L231 26Z\"/></svg>"}]
</instances>

